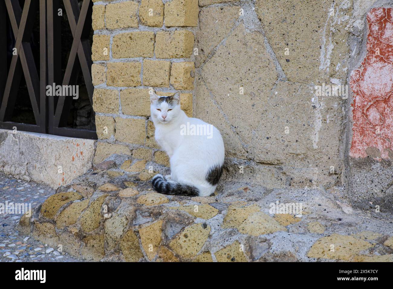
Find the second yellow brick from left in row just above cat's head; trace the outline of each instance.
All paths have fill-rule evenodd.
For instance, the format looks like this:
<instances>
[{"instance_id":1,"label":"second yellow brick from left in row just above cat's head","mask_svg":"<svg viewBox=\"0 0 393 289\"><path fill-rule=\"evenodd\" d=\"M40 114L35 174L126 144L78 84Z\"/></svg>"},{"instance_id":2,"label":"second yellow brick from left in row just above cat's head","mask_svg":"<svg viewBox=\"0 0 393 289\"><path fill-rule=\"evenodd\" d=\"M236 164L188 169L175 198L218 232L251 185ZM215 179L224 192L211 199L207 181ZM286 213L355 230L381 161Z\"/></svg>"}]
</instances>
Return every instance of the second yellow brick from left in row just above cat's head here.
<instances>
[{"instance_id":1,"label":"second yellow brick from left in row just above cat's head","mask_svg":"<svg viewBox=\"0 0 393 289\"><path fill-rule=\"evenodd\" d=\"M135 87L141 84L140 62L108 62L107 85Z\"/></svg>"}]
</instances>

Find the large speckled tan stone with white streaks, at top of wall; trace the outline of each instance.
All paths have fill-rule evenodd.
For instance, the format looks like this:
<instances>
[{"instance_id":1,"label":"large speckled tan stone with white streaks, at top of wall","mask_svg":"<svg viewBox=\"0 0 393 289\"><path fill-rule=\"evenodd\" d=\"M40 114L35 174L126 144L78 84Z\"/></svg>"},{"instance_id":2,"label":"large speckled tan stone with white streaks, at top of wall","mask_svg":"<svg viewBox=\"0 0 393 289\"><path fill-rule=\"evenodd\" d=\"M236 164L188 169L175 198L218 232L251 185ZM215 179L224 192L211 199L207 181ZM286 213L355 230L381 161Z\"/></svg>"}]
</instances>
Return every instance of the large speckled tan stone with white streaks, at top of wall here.
<instances>
[{"instance_id":1,"label":"large speckled tan stone with white streaks, at top of wall","mask_svg":"<svg viewBox=\"0 0 393 289\"><path fill-rule=\"evenodd\" d=\"M348 63L345 26L352 12L349 2L257 0L255 4L264 33L289 81L345 78L345 70L336 67L340 63L344 68ZM316 9L320 17L313 17Z\"/></svg>"}]
</instances>

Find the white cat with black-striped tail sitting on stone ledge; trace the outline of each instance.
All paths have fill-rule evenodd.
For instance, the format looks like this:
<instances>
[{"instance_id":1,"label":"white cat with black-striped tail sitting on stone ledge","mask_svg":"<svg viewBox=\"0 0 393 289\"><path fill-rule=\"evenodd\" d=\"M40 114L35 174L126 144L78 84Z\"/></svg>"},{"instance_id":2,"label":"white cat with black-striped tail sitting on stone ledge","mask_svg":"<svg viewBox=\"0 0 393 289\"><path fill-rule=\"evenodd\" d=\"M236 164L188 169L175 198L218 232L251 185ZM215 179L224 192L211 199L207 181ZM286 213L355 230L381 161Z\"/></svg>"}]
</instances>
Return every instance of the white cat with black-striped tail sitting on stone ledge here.
<instances>
[{"instance_id":1,"label":"white cat with black-striped tail sitting on stone ledge","mask_svg":"<svg viewBox=\"0 0 393 289\"><path fill-rule=\"evenodd\" d=\"M171 175L155 175L154 190L166 195L209 196L224 164L224 142L218 129L180 109L180 94L162 97L152 92L151 118L155 139L168 154Z\"/></svg>"}]
</instances>

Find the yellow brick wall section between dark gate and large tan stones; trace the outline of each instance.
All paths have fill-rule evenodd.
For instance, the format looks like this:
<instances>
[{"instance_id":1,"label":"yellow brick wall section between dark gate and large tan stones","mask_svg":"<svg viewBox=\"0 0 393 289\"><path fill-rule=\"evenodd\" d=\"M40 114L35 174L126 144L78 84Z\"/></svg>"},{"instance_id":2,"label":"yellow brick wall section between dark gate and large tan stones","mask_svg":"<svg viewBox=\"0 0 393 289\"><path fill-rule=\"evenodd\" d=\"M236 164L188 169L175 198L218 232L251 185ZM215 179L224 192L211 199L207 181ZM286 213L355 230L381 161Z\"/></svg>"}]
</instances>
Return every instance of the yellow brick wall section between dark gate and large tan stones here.
<instances>
[{"instance_id":1,"label":"yellow brick wall section between dark gate and large tan stones","mask_svg":"<svg viewBox=\"0 0 393 289\"><path fill-rule=\"evenodd\" d=\"M198 0L93 2L94 163L122 153L146 168L151 160L169 166L154 140L149 91L180 91L182 109L193 115Z\"/></svg>"}]
</instances>

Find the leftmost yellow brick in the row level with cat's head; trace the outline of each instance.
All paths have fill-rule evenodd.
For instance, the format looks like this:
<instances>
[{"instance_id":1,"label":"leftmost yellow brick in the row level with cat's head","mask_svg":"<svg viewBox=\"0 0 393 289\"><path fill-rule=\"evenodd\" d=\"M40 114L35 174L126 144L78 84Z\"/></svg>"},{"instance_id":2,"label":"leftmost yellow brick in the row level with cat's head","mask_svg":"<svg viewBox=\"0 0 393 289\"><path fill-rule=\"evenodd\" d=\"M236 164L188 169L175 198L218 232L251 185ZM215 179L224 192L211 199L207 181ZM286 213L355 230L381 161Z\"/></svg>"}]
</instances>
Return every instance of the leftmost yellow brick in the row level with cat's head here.
<instances>
[{"instance_id":1,"label":"leftmost yellow brick in the row level with cat's head","mask_svg":"<svg viewBox=\"0 0 393 289\"><path fill-rule=\"evenodd\" d=\"M93 93L95 112L119 113L118 90L96 88Z\"/></svg>"}]
</instances>

